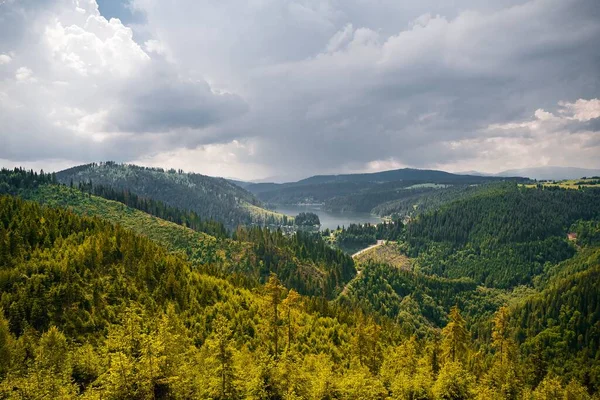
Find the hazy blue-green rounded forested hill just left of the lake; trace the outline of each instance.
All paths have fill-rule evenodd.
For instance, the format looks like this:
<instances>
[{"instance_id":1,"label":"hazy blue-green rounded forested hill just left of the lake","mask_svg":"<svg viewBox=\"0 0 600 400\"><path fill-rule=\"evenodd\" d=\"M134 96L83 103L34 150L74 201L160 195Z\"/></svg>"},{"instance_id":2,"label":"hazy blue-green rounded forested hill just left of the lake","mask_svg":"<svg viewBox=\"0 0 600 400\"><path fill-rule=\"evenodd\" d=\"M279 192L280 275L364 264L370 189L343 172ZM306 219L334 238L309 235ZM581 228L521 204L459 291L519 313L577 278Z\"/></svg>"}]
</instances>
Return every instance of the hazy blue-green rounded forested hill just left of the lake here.
<instances>
[{"instance_id":1,"label":"hazy blue-green rounded forested hill just left of the lake","mask_svg":"<svg viewBox=\"0 0 600 400\"><path fill-rule=\"evenodd\" d=\"M253 222L277 222L283 216L265 210L248 191L221 178L176 170L139 167L113 162L93 163L56 174L66 185L89 184L128 190L182 210L194 211L230 228Z\"/></svg>"}]
</instances>

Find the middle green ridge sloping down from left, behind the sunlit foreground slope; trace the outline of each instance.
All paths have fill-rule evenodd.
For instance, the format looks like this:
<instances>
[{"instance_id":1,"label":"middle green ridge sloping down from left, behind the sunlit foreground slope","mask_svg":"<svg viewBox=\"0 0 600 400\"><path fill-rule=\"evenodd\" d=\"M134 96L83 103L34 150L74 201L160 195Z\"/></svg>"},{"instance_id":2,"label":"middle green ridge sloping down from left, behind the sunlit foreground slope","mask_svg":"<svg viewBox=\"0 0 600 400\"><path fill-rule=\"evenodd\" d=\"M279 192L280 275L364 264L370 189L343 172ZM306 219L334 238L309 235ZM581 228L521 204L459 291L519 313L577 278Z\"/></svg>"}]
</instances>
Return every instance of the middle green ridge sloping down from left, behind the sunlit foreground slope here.
<instances>
[{"instance_id":1,"label":"middle green ridge sloping down from left, behind the sunlit foreground slope","mask_svg":"<svg viewBox=\"0 0 600 400\"><path fill-rule=\"evenodd\" d=\"M249 288L264 283L271 273L276 273L288 288L294 288L302 294L332 298L356 273L351 257L329 248L318 235L298 233L286 238L281 232L239 228L234 235L238 240L215 238L148 214L156 209L162 210L160 207L150 207L144 212L76 188L52 184L49 175L33 177L19 170L2 170L0 189L2 187L5 193L18 194L41 204L69 208L79 215L100 217L119 224L152 239L173 253L185 255L201 272ZM129 193L129 199L133 198L135 195ZM145 207L149 203L143 201L134 204ZM173 214L176 213L171 210L170 215Z\"/></svg>"}]
</instances>

